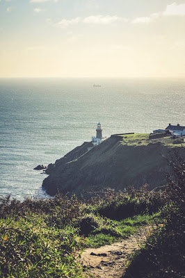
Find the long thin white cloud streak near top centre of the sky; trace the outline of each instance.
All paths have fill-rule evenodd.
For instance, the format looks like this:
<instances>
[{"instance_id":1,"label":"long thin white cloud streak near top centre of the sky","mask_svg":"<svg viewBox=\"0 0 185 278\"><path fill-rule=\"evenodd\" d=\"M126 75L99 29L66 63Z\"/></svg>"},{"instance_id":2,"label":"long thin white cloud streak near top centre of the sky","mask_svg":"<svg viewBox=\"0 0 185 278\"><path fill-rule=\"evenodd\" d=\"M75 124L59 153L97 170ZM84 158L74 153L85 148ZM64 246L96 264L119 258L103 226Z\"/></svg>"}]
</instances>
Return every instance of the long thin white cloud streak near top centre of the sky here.
<instances>
[{"instance_id":1,"label":"long thin white cloud streak near top centre of the sky","mask_svg":"<svg viewBox=\"0 0 185 278\"><path fill-rule=\"evenodd\" d=\"M123 21L126 22L127 19L123 17L118 17L117 15L91 15L90 17L75 17L72 19L62 19L61 22L56 23L56 26L61 28L66 28L67 26L74 25L74 24L111 24L113 22Z\"/></svg>"}]
</instances>

